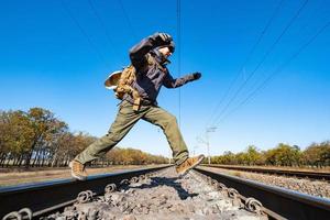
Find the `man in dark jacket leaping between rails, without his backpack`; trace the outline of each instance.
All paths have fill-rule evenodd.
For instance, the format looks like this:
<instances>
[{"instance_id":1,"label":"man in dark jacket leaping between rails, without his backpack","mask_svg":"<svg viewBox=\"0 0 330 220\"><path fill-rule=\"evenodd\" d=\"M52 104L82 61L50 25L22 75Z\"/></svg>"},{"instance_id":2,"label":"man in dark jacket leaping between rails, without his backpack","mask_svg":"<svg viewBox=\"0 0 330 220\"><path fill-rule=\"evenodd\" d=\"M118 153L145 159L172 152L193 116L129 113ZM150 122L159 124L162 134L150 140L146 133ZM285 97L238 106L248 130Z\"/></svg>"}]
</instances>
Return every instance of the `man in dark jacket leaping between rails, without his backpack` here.
<instances>
[{"instance_id":1,"label":"man in dark jacket leaping between rails, without his backpack","mask_svg":"<svg viewBox=\"0 0 330 220\"><path fill-rule=\"evenodd\" d=\"M167 58L174 53L174 48L173 38L166 33L155 33L131 48L130 58L135 68L136 78L130 86L139 94L139 108L135 108L134 97L131 94L124 94L117 118L108 133L70 162L73 177L85 180L87 178L86 163L99 158L114 147L140 119L162 128L172 148L179 176L187 174L189 169L201 163L205 156L189 157L176 118L158 107L156 101L162 86L177 88L201 77L200 73L177 79L170 76L166 65L170 63Z\"/></svg>"}]
</instances>

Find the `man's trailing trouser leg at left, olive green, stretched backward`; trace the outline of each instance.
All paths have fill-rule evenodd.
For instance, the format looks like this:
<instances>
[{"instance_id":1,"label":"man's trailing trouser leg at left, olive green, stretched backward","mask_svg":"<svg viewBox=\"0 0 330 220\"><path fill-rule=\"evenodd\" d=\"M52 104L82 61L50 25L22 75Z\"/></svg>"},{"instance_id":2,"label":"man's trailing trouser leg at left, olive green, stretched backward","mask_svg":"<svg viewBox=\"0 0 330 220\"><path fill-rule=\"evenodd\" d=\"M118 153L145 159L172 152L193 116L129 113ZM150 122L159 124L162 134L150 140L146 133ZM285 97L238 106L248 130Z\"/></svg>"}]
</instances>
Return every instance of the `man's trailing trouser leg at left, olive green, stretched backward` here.
<instances>
[{"instance_id":1,"label":"man's trailing trouser leg at left, olive green, stretched backward","mask_svg":"<svg viewBox=\"0 0 330 220\"><path fill-rule=\"evenodd\" d=\"M128 134L141 117L142 113L133 111L131 103L123 101L108 134L90 144L75 161L86 164L105 155Z\"/></svg>"}]
</instances>

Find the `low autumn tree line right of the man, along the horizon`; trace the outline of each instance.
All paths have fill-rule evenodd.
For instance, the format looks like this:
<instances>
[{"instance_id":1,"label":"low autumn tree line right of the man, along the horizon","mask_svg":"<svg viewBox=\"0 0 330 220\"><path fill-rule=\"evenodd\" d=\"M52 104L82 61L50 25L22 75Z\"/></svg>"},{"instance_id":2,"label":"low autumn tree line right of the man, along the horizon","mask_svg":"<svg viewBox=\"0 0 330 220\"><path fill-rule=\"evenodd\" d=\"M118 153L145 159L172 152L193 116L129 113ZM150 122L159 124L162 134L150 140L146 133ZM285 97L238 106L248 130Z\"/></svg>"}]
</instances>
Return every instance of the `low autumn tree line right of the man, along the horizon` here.
<instances>
[{"instance_id":1,"label":"low autumn tree line right of the man, along the horizon","mask_svg":"<svg viewBox=\"0 0 330 220\"><path fill-rule=\"evenodd\" d=\"M297 145L279 143L274 148L260 151L250 145L246 151L212 156L212 164L226 165L271 165L271 166L330 166L330 141L312 143L301 151Z\"/></svg>"}]
</instances>

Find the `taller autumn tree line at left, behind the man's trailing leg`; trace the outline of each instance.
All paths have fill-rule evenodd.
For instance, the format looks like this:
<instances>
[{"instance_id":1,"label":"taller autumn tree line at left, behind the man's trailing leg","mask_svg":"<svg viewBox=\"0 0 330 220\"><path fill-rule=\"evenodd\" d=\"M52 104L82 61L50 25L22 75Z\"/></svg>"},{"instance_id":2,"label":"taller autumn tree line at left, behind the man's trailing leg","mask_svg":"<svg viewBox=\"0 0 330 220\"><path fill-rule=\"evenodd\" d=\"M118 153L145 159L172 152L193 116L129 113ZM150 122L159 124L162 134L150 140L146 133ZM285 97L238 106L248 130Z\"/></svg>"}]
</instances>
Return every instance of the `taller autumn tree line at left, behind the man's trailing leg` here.
<instances>
[{"instance_id":1,"label":"taller autumn tree line at left, behind the man's trailing leg","mask_svg":"<svg viewBox=\"0 0 330 220\"><path fill-rule=\"evenodd\" d=\"M0 166L67 166L96 140L70 132L68 124L43 108L29 111L0 110ZM167 158L140 150L116 147L91 165L164 164Z\"/></svg>"}]
</instances>

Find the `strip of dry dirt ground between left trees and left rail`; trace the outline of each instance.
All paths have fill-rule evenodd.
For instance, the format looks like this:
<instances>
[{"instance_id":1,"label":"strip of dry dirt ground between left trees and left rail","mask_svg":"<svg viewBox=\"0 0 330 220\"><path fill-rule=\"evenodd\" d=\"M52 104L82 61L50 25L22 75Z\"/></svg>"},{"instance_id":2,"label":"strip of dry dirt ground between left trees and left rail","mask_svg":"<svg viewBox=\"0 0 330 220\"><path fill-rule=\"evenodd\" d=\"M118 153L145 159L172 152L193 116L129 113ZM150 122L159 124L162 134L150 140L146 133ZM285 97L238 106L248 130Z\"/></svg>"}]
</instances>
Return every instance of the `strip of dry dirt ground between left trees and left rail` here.
<instances>
[{"instance_id":1,"label":"strip of dry dirt ground between left trees and left rail","mask_svg":"<svg viewBox=\"0 0 330 220\"><path fill-rule=\"evenodd\" d=\"M154 167L155 165L116 165L101 168L90 168L87 167L87 173L89 175L95 174L106 174L111 172L128 170L133 168L146 168ZM32 168L30 170L21 169L0 169L0 187L14 186L19 184L32 184L45 180L55 180L62 178L72 178L70 169L66 168Z\"/></svg>"}]
</instances>

